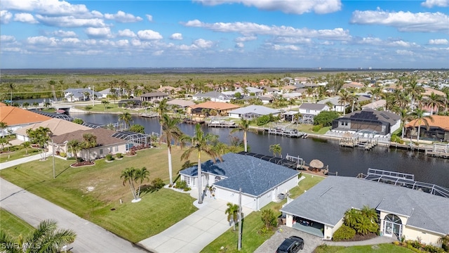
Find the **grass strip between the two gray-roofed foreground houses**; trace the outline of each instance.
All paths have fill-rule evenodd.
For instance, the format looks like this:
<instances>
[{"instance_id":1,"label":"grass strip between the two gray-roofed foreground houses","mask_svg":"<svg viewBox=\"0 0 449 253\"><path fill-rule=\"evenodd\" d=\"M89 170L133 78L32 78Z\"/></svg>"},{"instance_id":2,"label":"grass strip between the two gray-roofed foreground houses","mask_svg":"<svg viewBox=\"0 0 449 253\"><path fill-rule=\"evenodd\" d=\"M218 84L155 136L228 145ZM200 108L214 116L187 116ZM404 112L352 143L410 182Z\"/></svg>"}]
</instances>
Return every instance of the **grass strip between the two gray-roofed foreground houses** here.
<instances>
[{"instance_id":1,"label":"grass strip between the two gray-roofed foreground houses","mask_svg":"<svg viewBox=\"0 0 449 253\"><path fill-rule=\"evenodd\" d=\"M305 179L303 179L299 186L290 190L290 194L292 197L297 197L304 193L304 190L308 190L309 188L319 183L323 180L323 177L320 176L311 176L309 174L303 174ZM286 203L287 200L283 200L280 203L272 202L269 205L262 208L264 209L272 209L276 216L280 216L282 205ZM260 217L262 211L260 212L252 212L248 216L243 219L243 231L242 231L242 248L240 252L254 252L262 243L272 237L275 231L269 231L265 234L260 234L260 228L264 226ZM201 252L239 252L237 250L237 240L238 233L233 231L232 228L229 228L228 231L223 233L219 238L215 239L213 242L210 242L208 246L206 246ZM225 247L226 250L221 250L221 247Z\"/></svg>"}]
</instances>

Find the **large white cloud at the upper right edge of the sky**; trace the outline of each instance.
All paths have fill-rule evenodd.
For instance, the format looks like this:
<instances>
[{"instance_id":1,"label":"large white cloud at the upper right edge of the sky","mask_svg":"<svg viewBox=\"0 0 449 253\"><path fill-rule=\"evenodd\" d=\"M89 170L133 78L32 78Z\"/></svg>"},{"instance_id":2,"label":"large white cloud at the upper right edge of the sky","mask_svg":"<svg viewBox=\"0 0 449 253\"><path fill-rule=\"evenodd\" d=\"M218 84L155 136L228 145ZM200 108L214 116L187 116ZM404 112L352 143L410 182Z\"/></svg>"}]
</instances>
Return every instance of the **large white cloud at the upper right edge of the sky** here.
<instances>
[{"instance_id":1,"label":"large white cloud at the upper right edge of the sky","mask_svg":"<svg viewBox=\"0 0 449 253\"><path fill-rule=\"evenodd\" d=\"M359 25L387 25L401 32L449 32L449 16L444 13L410 13L354 11L351 23Z\"/></svg>"}]
</instances>

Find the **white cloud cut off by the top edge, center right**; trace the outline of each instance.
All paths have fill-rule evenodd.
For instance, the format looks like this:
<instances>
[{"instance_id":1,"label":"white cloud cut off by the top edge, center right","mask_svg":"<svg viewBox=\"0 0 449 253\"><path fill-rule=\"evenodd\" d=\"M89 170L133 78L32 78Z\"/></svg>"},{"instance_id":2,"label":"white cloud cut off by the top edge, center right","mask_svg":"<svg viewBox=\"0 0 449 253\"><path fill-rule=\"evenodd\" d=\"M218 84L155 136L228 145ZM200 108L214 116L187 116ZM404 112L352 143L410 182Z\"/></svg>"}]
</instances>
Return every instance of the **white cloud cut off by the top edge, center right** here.
<instances>
[{"instance_id":1,"label":"white cloud cut off by the top edge, center right","mask_svg":"<svg viewBox=\"0 0 449 253\"><path fill-rule=\"evenodd\" d=\"M196 0L203 5L215 6L218 4L243 4L245 6L254 6L267 11L282 11L283 13L333 13L340 11L342 8L342 2L340 0Z\"/></svg>"}]
</instances>

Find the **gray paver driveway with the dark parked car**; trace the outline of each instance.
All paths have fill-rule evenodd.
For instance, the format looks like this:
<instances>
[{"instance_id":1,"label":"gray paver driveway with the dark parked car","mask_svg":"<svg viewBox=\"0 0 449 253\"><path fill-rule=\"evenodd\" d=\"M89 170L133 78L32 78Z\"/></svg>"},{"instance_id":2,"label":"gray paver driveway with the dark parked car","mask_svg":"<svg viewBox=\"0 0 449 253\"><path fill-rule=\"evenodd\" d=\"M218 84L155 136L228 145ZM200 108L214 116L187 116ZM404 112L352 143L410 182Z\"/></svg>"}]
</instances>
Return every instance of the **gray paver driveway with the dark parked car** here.
<instances>
[{"instance_id":1,"label":"gray paver driveway with the dark parked car","mask_svg":"<svg viewBox=\"0 0 449 253\"><path fill-rule=\"evenodd\" d=\"M266 240L260 247L255 250L255 253L276 252L276 249L281 245L285 238L289 238L291 235L299 236L304 239L304 249L301 253L311 253L319 245L333 245L333 246L356 246L356 245L376 245L380 243L394 242L393 238L386 236L377 236L370 240L364 240L359 242L333 242L329 240L322 240L318 236L311 235L298 231L294 228L288 228L287 226L281 226L281 232L276 232L271 238ZM242 246L243 247L243 246Z\"/></svg>"}]
</instances>

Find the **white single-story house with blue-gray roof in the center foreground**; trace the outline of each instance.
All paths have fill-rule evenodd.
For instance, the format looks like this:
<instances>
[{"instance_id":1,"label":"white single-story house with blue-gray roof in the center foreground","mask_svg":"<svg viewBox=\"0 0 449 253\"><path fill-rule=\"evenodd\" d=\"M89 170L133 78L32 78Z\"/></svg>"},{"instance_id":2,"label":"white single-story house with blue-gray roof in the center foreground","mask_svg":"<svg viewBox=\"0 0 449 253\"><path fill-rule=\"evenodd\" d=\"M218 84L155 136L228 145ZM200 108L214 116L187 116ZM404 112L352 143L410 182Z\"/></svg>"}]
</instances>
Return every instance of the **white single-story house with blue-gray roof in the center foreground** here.
<instances>
[{"instance_id":1,"label":"white single-story house with blue-gray roof in the center foreground","mask_svg":"<svg viewBox=\"0 0 449 253\"><path fill-rule=\"evenodd\" d=\"M298 171L256 157L227 153L222 160L216 163L208 160L201 164L202 186L213 186L217 199L234 204L239 203L241 189L243 207L256 211L279 199L280 195L286 195L298 183ZM197 166L183 169L180 175L190 188L196 188Z\"/></svg>"}]
</instances>

